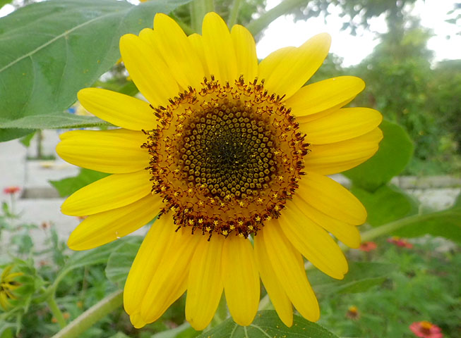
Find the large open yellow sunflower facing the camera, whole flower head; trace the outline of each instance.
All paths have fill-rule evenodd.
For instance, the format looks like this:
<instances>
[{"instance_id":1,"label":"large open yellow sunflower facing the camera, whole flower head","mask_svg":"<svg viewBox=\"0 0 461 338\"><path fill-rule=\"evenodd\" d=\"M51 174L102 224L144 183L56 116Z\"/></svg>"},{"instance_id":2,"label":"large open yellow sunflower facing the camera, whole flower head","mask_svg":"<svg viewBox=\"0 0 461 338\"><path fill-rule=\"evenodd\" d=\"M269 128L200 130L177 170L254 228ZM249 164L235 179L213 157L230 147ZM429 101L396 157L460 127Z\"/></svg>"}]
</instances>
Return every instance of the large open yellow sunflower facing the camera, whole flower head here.
<instances>
[{"instance_id":1,"label":"large open yellow sunflower facing the camera, whole flower head","mask_svg":"<svg viewBox=\"0 0 461 338\"><path fill-rule=\"evenodd\" d=\"M381 114L341 108L364 82L335 77L303 85L328 54L330 36L275 51L258 64L246 28L216 13L202 35L186 36L155 15L154 30L124 35L120 51L148 102L86 88L78 99L119 129L71 131L64 160L111 173L64 202L88 216L68 239L91 249L137 230L156 215L131 266L124 308L135 327L152 323L187 291L186 319L203 330L224 289L229 312L249 325L260 276L283 323L293 309L318 320L303 256L342 279L335 239L358 247L366 211L325 175L366 161L382 138Z\"/></svg>"}]
</instances>

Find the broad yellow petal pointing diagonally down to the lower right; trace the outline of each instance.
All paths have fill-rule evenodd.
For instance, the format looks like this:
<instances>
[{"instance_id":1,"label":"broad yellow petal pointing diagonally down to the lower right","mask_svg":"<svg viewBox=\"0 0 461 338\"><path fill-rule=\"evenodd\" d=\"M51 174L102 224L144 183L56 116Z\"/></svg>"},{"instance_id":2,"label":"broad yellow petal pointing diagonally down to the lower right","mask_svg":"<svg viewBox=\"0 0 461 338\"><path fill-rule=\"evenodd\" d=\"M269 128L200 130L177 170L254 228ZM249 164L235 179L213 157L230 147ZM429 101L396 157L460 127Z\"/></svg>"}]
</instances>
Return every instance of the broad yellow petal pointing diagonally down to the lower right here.
<instances>
[{"instance_id":1,"label":"broad yellow petal pointing diagonally down to the lower right","mask_svg":"<svg viewBox=\"0 0 461 338\"><path fill-rule=\"evenodd\" d=\"M282 212L280 226L289 242L316 268L338 280L344 278L347 261L340 247L294 204L287 205Z\"/></svg>"}]
</instances>

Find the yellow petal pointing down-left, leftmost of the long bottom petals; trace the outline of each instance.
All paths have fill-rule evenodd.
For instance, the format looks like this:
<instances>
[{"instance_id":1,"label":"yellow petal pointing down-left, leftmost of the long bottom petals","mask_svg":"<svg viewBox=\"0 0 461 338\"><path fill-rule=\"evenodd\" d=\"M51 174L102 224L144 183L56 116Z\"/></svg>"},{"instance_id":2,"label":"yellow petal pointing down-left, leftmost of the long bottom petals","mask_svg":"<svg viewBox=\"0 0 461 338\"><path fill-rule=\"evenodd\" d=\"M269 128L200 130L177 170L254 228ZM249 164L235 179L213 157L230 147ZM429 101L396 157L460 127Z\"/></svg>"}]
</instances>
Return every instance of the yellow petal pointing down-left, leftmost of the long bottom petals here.
<instances>
[{"instance_id":1,"label":"yellow petal pointing down-left, leftmost of the long bottom petals","mask_svg":"<svg viewBox=\"0 0 461 338\"><path fill-rule=\"evenodd\" d=\"M140 312L145 292L162 261L165 250L171 245L174 230L176 225L172 217L162 215L145 236L126 278L124 308L129 315Z\"/></svg>"}]
</instances>

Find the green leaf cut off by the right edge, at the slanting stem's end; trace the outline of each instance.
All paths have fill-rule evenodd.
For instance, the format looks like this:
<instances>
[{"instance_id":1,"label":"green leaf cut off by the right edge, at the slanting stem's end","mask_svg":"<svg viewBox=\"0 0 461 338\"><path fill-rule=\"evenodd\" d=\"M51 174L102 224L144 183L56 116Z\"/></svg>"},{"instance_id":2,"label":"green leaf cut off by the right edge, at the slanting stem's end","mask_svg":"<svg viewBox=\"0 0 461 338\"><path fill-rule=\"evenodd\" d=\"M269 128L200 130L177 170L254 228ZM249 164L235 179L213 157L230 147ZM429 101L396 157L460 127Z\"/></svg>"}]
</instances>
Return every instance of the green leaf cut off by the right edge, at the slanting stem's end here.
<instances>
[{"instance_id":1,"label":"green leaf cut off by the right edge, at the slanting stem's end","mask_svg":"<svg viewBox=\"0 0 461 338\"><path fill-rule=\"evenodd\" d=\"M424 234L432 234L461 243L461 206L455 204L453 208L443 211L407 218L405 227L393 234L402 237L419 237Z\"/></svg>"}]
</instances>

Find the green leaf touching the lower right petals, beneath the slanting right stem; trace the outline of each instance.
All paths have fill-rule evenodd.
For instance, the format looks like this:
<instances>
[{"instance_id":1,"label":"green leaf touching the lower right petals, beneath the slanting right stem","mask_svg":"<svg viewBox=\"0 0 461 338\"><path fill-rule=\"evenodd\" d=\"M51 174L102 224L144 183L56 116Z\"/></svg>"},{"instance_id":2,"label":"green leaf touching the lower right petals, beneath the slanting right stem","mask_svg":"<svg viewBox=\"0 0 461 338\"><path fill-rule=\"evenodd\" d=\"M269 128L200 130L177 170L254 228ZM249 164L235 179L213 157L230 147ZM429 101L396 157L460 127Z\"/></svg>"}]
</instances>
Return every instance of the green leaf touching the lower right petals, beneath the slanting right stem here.
<instances>
[{"instance_id":1,"label":"green leaf touching the lower right petals, beneath the slanting right stem","mask_svg":"<svg viewBox=\"0 0 461 338\"><path fill-rule=\"evenodd\" d=\"M308 277L316 294L357 293L382 284L394 269L386 263L351 262L344 280L333 280L319 270L309 271Z\"/></svg>"}]
</instances>

